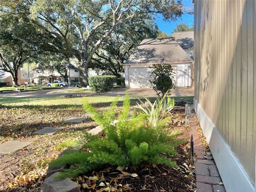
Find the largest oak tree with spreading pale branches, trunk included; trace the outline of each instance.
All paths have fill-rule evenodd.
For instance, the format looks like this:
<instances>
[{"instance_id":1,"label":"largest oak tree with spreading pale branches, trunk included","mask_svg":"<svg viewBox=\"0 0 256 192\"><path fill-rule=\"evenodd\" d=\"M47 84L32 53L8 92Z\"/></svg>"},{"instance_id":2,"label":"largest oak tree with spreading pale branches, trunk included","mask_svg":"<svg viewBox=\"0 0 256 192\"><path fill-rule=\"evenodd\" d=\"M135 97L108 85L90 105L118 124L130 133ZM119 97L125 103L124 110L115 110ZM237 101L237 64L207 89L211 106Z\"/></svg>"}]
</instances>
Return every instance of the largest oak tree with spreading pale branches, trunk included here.
<instances>
[{"instance_id":1,"label":"largest oak tree with spreading pale branches, trunk included","mask_svg":"<svg viewBox=\"0 0 256 192\"><path fill-rule=\"evenodd\" d=\"M126 20L162 14L175 20L182 14L180 0L34 0L24 1L33 22L54 39L52 46L77 60L82 85L88 84L88 68L102 42Z\"/></svg>"}]
</instances>

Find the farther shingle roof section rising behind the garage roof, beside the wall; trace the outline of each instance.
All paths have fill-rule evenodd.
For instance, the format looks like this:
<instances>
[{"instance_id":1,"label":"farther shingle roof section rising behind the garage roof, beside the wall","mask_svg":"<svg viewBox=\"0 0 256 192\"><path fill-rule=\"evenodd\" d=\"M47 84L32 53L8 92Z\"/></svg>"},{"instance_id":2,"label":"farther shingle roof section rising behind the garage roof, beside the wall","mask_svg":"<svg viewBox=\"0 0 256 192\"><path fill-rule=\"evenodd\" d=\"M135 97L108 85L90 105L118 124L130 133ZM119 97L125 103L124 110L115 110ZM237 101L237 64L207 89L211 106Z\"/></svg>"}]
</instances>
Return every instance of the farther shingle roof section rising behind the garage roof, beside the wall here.
<instances>
[{"instance_id":1,"label":"farther shingle roof section rising behind the garage roof, beside the wall","mask_svg":"<svg viewBox=\"0 0 256 192\"><path fill-rule=\"evenodd\" d=\"M182 49L193 49L194 46L194 31L174 32L172 37L180 44Z\"/></svg>"}]
</instances>

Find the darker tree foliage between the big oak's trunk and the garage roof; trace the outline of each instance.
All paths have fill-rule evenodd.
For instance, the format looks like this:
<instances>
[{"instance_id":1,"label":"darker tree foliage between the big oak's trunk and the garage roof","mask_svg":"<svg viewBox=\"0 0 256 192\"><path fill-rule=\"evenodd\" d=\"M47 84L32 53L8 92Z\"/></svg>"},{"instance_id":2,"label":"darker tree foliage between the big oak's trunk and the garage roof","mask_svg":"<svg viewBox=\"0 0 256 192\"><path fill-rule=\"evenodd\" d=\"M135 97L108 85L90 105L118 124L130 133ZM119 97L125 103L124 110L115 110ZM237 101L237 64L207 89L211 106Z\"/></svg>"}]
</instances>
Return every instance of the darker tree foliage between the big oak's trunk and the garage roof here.
<instances>
[{"instance_id":1,"label":"darker tree foliage between the big oak's trunk and the garage roof","mask_svg":"<svg viewBox=\"0 0 256 192\"><path fill-rule=\"evenodd\" d=\"M145 38L156 38L157 33L158 28L153 20L126 20L122 25L117 25L115 31L102 42L89 67L110 71L121 77L124 72L123 63L129 59L135 48Z\"/></svg>"}]
</instances>

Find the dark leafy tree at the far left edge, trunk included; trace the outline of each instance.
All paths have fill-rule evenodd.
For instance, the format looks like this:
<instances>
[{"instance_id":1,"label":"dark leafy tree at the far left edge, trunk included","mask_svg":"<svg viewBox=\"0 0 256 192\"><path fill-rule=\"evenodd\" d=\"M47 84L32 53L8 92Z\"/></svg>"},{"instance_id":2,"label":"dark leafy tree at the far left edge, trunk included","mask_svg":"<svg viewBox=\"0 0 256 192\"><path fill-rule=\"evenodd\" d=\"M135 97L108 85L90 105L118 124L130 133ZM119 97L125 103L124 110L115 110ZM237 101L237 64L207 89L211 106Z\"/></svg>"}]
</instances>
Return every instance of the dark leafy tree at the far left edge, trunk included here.
<instances>
[{"instance_id":1,"label":"dark leafy tree at the far left edge, trunk included","mask_svg":"<svg viewBox=\"0 0 256 192\"><path fill-rule=\"evenodd\" d=\"M50 42L16 8L12 13L5 6L0 8L0 69L12 75L14 85L18 85L18 70L23 63L49 50L45 42Z\"/></svg>"}]
</instances>

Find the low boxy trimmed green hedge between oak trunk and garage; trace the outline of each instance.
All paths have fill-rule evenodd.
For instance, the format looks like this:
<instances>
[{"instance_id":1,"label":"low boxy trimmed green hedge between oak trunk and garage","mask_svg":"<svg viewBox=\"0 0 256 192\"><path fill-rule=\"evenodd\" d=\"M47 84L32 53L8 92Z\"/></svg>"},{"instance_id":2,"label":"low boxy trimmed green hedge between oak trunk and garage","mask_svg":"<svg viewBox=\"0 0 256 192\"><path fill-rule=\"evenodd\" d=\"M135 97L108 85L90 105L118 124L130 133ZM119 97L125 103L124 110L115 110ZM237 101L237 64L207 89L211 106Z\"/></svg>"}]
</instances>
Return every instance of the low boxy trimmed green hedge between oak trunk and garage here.
<instances>
[{"instance_id":1,"label":"low boxy trimmed green hedge between oak trunk and garage","mask_svg":"<svg viewBox=\"0 0 256 192\"><path fill-rule=\"evenodd\" d=\"M115 78L112 75L97 75L89 77L88 80L92 91L102 92L113 89Z\"/></svg>"}]
</instances>

